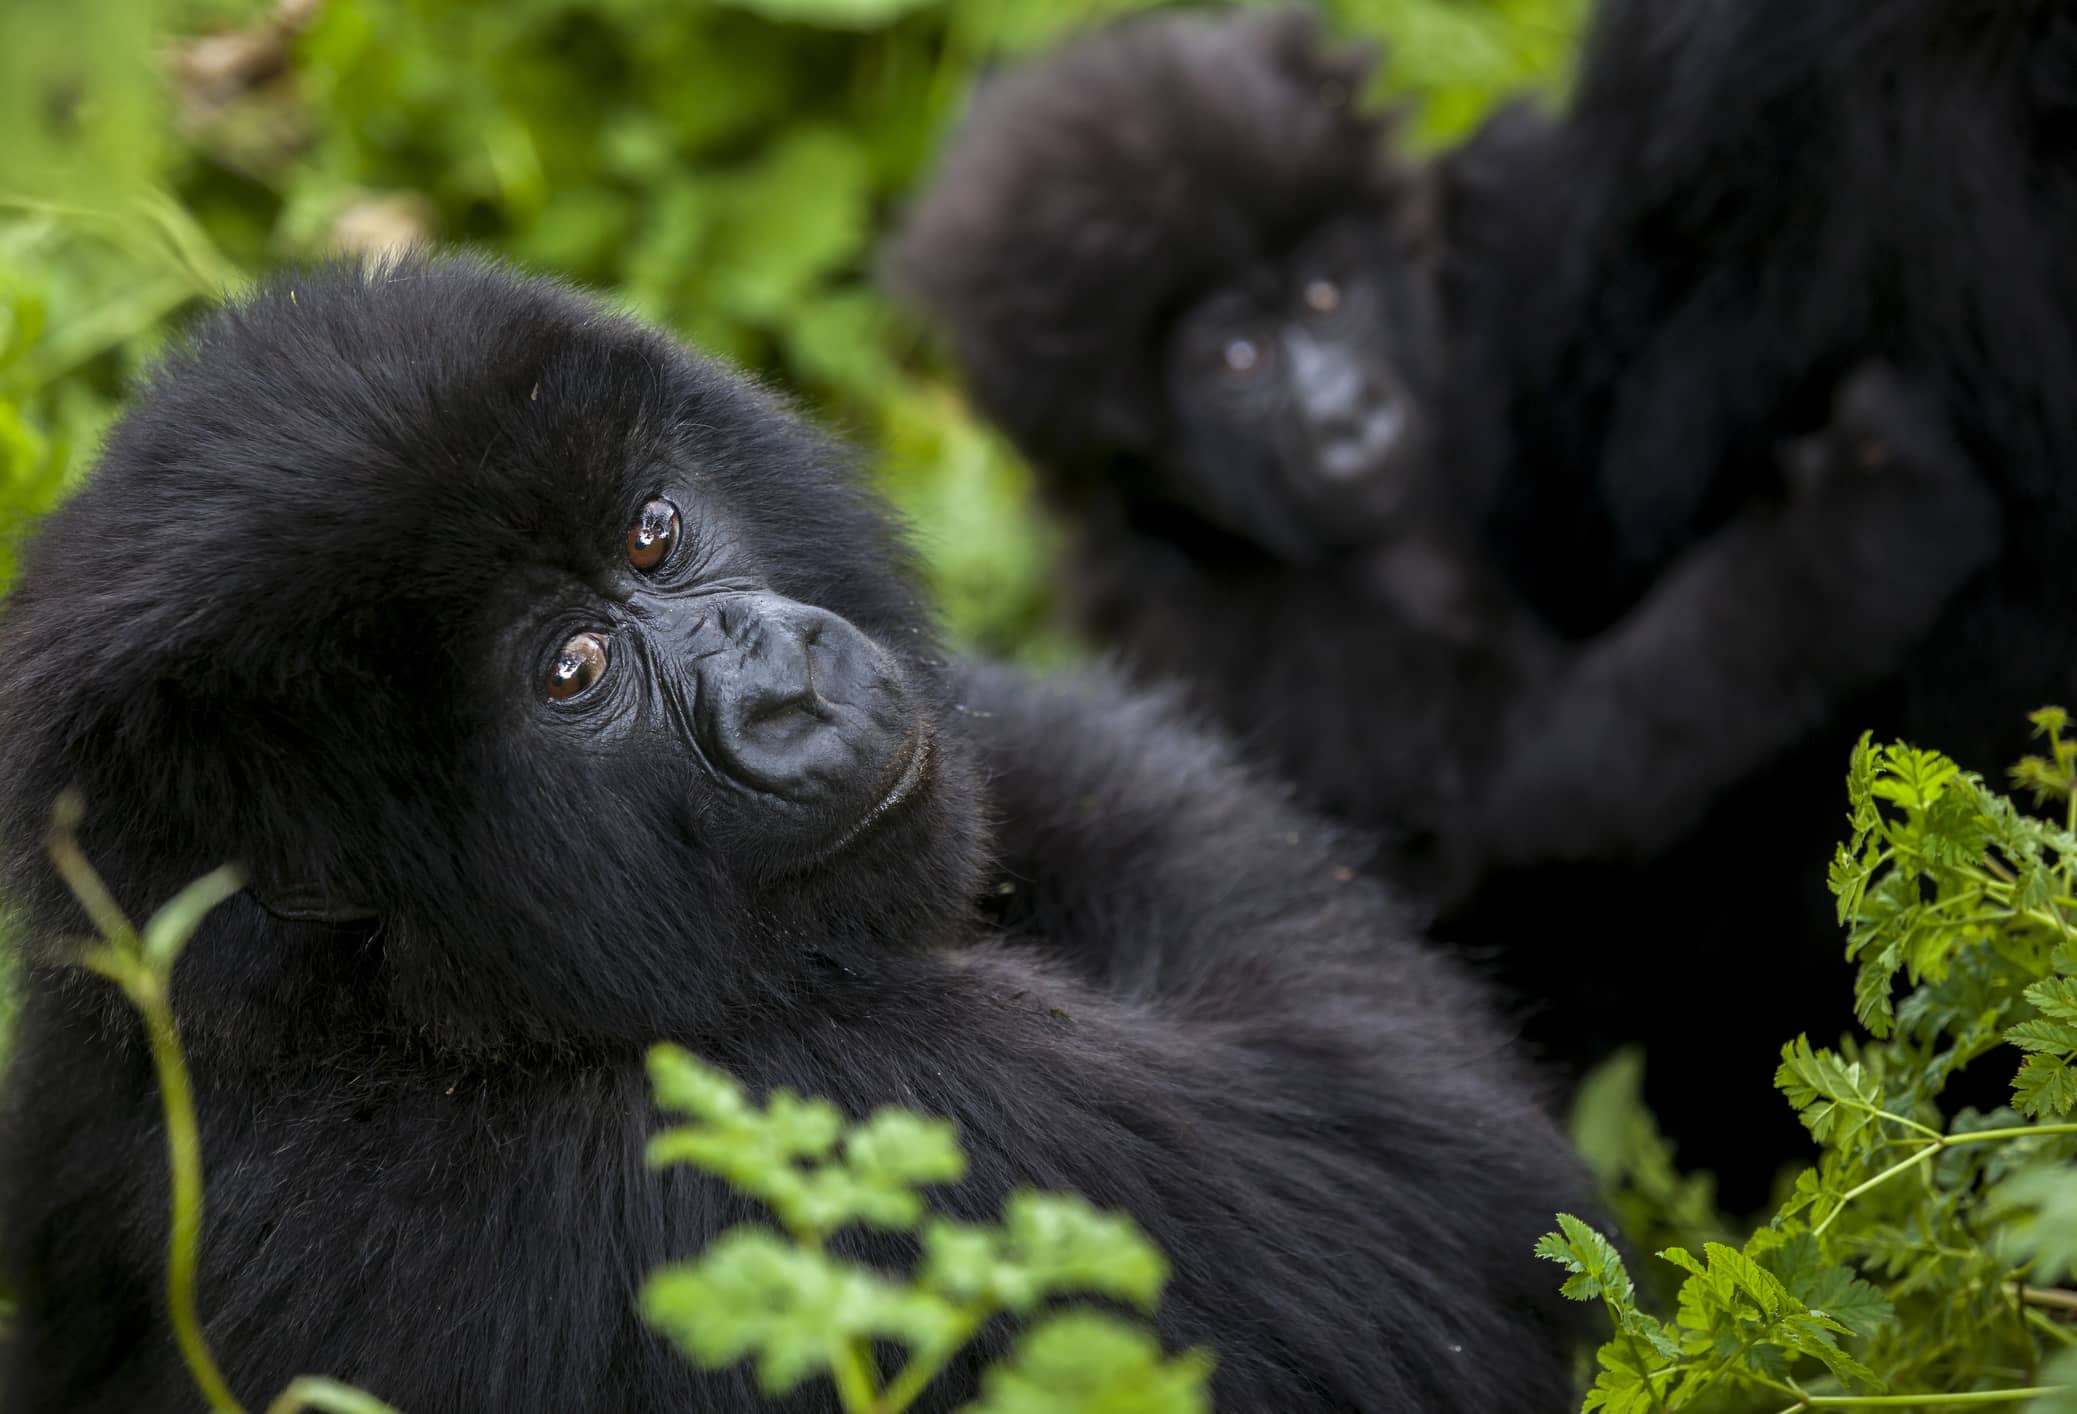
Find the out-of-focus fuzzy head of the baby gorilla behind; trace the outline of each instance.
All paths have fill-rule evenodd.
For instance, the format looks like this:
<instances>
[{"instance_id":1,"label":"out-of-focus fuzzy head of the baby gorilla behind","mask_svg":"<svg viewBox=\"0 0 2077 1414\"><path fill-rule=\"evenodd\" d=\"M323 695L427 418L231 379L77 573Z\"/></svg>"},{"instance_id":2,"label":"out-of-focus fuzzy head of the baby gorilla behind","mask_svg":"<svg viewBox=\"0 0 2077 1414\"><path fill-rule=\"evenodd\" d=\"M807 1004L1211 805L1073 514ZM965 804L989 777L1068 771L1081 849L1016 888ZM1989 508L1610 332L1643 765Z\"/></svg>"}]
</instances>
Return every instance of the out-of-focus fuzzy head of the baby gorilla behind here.
<instances>
[{"instance_id":1,"label":"out-of-focus fuzzy head of the baby gorilla behind","mask_svg":"<svg viewBox=\"0 0 2077 1414\"><path fill-rule=\"evenodd\" d=\"M889 278L1070 513L1304 561L1427 496L1431 183L1367 73L1306 10L1159 15L980 96Z\"/></svg>"}]
</instances>

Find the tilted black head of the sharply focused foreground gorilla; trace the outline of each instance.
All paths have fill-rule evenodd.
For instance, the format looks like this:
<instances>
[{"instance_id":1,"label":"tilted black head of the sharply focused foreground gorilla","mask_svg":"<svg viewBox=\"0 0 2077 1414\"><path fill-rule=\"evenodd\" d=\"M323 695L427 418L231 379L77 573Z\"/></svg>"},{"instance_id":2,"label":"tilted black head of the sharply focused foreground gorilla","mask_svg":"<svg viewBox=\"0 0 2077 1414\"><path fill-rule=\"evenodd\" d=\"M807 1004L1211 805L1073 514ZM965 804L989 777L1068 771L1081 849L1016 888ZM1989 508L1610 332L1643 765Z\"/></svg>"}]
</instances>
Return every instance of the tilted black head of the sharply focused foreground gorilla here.
<instances>
[{"instance_id":1,"label":"tilted black head of the sharply focused foreground gorilla","mask_svg":"<svg viewBox=\"0 0 2077 1414\"><path fill-rule=\"evenodd\" d=\"M37 540L4 774L17 812L83 785L133 909L239 860L276 916L382 920L428 1024L656 1036L625 978L698 966L665 936L964 907L897 565L833 444L644 328L469 264L276 280Z\"/></svg>"}]
</instances>

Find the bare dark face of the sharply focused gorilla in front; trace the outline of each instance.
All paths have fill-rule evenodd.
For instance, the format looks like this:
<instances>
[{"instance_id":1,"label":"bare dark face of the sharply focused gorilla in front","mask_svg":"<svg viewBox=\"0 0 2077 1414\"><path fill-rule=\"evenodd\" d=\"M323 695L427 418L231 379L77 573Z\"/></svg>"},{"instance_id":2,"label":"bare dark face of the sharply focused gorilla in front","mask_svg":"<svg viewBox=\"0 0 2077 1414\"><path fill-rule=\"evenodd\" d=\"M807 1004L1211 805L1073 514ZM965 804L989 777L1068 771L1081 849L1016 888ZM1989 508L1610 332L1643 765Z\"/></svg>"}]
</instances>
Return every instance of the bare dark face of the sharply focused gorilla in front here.
<instances>
[{"instance_id":1,"label":"bare dark face of the sharply focused gorilla in front","mask_svg":"<svg viewBox=\"0 0 2077 1414\"><path fill-rule=\"evenodd\" d=\"M546 731L690 766L704 835L779 872L812 868L930 787L935 733L901 664L847 619L771 592L725 521L679 484L621 536L602 529L615 552L530 625L521 662Z\"/></svg>"}]
</instances>

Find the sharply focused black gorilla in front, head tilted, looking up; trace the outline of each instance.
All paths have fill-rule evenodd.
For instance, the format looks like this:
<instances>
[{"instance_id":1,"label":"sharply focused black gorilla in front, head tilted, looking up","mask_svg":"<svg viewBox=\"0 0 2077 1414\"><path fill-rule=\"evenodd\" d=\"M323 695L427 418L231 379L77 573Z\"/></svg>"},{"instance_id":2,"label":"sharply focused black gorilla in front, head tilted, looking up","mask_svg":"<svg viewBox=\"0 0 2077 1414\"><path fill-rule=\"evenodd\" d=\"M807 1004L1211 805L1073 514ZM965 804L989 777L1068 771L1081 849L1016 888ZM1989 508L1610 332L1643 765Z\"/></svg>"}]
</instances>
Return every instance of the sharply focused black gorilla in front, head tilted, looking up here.
<instances>
[{"instance_id":1,"label":"sharply focused black gorilla in front, head tilted, looking up","mask_svg":"<svg viewBox=\"0 0 2077 1414\"><path fill-rule=\"evenodd\" d=\"M245 1399L762 1408L633 1308L754 1215L644 1165L673 1038L949 1115L955 1213L1132 1213L1221 1408L1568 1402L1531 1244L1581 1184L1466 978L1163 704L947 669L841 451L650 330L463 262L264 287L44 525L0 658L10 1410L195 1408L147 1049L42 860L69 785L133 914L251 880L174 986Z\"/></svg>"}]
</instances>

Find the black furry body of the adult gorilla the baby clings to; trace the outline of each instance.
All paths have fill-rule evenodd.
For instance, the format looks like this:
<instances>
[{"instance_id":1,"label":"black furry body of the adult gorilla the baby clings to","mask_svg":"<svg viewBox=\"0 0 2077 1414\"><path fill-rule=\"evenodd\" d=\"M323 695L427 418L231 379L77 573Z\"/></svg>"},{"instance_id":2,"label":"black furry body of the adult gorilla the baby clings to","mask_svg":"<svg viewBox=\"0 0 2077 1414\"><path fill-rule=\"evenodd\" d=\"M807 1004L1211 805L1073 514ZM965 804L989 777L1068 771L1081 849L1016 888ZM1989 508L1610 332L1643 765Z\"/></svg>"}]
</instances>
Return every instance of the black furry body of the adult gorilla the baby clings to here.
<instances>
[{"instance_id":1,"label":"black furry body of the adult gorilla the baby clings to","mask_svg":"<svg viewBox=\"0 0 2077 1414\"><path fill-rule=\"evenodd\" d=\"M1824 862L1855 735L1996 774L2023 714L2077 694L2077 12L1601 0L1570 112L1514 166L1522 241L1489 305L1512 388L1491 544L1560 629L1599 633L1776 496L1755 453L1869 355L1917 370L2008 532L1890 673L1647 874L1520 872L1444 930L1498 941L1587 909L1633 955L1678 920L1714 976L1765 941L1836 955ZM1765 1073L1761 1036L1726 1040L1726 1073Z\"/></svg>"}]
</instances>

